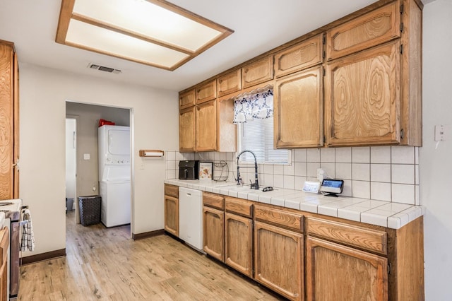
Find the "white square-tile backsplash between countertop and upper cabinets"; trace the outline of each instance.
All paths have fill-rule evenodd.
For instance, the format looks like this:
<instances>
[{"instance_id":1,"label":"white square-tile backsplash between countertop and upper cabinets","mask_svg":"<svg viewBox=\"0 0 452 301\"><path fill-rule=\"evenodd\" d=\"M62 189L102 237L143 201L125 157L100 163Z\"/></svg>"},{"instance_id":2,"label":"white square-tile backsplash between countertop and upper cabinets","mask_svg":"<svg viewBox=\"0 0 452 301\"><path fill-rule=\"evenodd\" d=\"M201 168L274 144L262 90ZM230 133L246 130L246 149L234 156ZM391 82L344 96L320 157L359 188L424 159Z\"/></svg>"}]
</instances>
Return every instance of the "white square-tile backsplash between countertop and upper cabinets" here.
<instances>
[{"instance_id":1,"label":"white square-tile backsplash between countertop and upper cabinets","mask_svg":"<svg viewBox=\"0 0 452 301\"><path fill-rule=\"evenodd\" d=\"M237 177L236 153L179 153L167 151L167 179L177 179L179 160L201 160L220 163L214 176L228 175L228 182ZM240 163L240 166L246 165ZM254 164L250 164L253 166ZM261 187L273 186L302 190L305 181L316 181L317 169L326 177L344 180L345 196L393 201L419 205L419 148L413 146L371 146L353 148L308 148L292 150L291 163L259 164ZM254 182L254 168L240 170L245 183Z\"/></svg>"}]
</instances>

